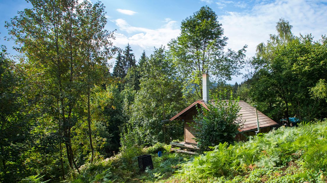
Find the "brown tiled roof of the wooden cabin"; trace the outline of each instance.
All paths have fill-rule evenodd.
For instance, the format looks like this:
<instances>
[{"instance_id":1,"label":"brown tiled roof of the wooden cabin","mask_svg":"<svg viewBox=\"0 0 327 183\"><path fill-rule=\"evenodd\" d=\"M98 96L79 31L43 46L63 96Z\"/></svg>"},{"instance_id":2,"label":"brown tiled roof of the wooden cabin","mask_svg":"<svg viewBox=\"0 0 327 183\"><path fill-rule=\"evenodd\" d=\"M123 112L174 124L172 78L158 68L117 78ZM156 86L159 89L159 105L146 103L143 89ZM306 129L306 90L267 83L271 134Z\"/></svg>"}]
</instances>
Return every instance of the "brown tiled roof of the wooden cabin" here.
<instances>
[{"instance_id":1,"label":"brown tiled roof of the wooden cabin","mask_svg":"<svg viewBox=\"0 0 327 183\"><path fill-rule=\"evenodd\" d=\"M214 101L210 101L210 102L214 103ZM188 112L189 110L192 110L193 107L195 107L196 105L202 105L203 107L208 109L206 103L203 100L197 100L196 102L194 102L193 104L182 110L180 113L172 117L170 120L171 121L176 120L182 114ZM240 121L242 121L243 124L242 128L239 129L239 131L242 132L242 131L257 129L257 118L255 116L254 107L250 106L248 103L244 102L243 100L240 100L238 102L238 105L241 107L239 114L241 114ZM277 125L277 123L274 120L270 119L260 111L258 111L258 119L259 119L260 128Z\"/></svg>"}]
</instances>

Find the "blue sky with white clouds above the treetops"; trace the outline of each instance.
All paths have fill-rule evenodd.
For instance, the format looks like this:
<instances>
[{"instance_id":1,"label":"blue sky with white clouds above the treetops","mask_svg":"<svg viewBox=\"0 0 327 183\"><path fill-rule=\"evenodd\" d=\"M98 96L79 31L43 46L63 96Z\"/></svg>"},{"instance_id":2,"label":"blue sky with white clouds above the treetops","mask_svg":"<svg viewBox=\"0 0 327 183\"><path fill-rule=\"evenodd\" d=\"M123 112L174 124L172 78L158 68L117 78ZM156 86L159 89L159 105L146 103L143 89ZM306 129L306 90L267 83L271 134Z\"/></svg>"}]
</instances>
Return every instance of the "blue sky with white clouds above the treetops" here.
<instances>
[{"instance_id":1,"label":"blue sky with white clouds above the treetops","mask_svg":"<svg viewBox=\"0 0 327 183\"><path fill-rule=\"evenodd\" d=\"M108 20L105 28L115 30L113 44L124 49L129 43L136 60L143 50L149 56L154 47L166 46L178 37L181 21L202 6L209 6L217 14L224 36L229 38L226 49L238 50L248 45L247 58L255 55L256 46L266 42L269 34L276 34L280 18L290 22L296 36L312 34L318 41L327 30L327 0L102 0L102 3ZM24 8L31 8L31 4L24 0L0 0L0 45L6 45L10 54L16 53L11 49L14 43L4 40L8 36L4 24ZM242 76L233 76L227 83L243 80Z\"/></svg>"}]
</instances>

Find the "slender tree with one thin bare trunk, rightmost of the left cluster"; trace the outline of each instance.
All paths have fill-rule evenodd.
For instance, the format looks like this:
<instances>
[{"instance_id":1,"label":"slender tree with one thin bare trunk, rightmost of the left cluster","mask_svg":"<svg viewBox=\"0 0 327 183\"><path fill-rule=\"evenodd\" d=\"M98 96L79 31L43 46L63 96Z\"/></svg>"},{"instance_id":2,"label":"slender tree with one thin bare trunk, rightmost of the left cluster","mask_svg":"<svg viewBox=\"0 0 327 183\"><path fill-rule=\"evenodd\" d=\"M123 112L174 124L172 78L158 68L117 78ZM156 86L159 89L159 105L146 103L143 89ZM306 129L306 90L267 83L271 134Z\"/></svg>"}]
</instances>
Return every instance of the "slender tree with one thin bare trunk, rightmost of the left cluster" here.
<instances>
[{"instance_id":1,"label":"slender tree with one thin bare trunk, rightmost of the left cluster","mask_svg":"<svg viewBox=\"0 0 327 183\"><path fill-rule=\"evenodd\" d=\"M108 75L107 60L111 58L114 49L112 49L112 32L104 29L107 19L103 4L95 4L89 1L83 1L77 6L77 19L79 20L80 34L80 57L82 58L84 68L84 81L86 84L87 95L87 121L89 130L89 141L91 148L91 162L94 160L94 148L91 132L91 103L90 96L95 85L100 85Z\"/></svg>"}]
</instances>

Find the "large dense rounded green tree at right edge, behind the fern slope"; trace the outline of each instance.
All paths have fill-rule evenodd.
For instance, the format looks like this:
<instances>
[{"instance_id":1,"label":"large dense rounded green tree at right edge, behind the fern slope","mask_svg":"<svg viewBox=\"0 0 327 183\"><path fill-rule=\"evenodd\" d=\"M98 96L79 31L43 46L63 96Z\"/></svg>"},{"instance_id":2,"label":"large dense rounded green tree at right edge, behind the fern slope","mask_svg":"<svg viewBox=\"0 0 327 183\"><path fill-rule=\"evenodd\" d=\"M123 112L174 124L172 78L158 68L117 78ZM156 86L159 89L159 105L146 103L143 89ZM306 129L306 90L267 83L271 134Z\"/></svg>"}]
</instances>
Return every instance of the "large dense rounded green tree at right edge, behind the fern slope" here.
<instances>
[{"instance_id":1,"label":"large dense rounded green tree at right edge, behind the fern slope","mask_svg":"<svg viewBox=\"0 0 327 183\"><path fill-rule=\"evenodd\" d=\"M257 47L251 59L254 74L248 80L253 102L268 116L288 120L293 113L311 120L324 116L326 103L310 99L310 88L325 79L326 38L295 37L288 21L277 22L277 35ZM316 55L316 56L314 56Z\"/></svg>"}]
</instances>

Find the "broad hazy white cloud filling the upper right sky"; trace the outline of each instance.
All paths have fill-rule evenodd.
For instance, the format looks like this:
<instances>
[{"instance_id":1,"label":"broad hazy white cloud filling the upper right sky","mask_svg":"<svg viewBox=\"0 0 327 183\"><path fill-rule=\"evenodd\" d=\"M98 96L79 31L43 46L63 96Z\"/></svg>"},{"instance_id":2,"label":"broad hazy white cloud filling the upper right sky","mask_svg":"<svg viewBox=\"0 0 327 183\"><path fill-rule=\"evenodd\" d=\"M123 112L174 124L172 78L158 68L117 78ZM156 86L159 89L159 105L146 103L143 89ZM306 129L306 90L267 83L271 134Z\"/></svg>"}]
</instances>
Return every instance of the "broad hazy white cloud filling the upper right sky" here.
<instances>
[{"instance_id":1,"label":"broad hazy white cloud filling the upper right sky","mask_svg":"<svg viewBox=\"0 0 327 183\"><path fill-rule=\"evenodd\" d=\"M276 34L276 22L285 18L293 25L293 34L310 34L316 40L326 34L327 5L305 0L284 1L256 4L250 11L228 12L219 17L224 28L224 35L229 37L228 47L240 49L247 44L247 56L255 55L255 48L269 39L269 34Z\"/></svg>"}]
</instances>

